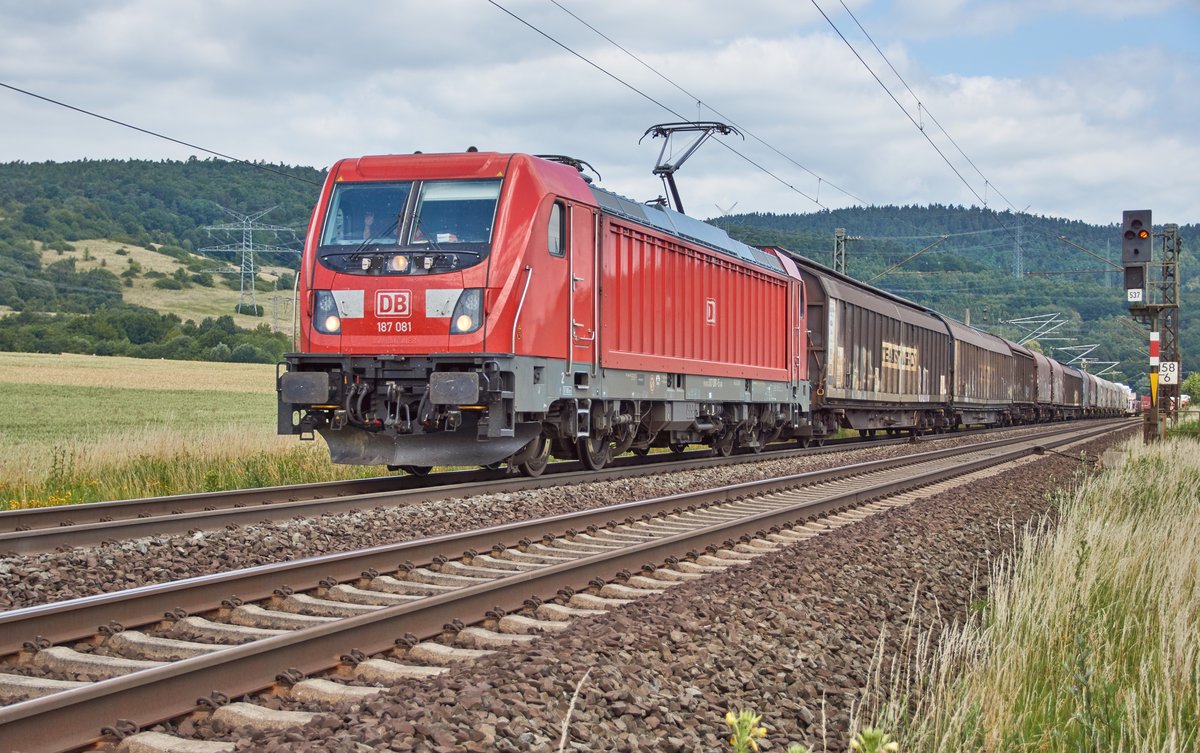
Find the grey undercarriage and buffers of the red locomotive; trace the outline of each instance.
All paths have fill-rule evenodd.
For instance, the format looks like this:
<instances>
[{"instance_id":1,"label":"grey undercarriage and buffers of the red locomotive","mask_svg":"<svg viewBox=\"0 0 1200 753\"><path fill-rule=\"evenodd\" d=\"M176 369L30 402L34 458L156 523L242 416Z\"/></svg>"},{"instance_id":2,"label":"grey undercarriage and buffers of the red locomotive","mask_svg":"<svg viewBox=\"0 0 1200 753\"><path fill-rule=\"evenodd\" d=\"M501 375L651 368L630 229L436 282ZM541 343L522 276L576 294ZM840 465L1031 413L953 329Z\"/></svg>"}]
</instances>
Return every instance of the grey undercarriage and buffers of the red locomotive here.
<instances>
[{"instance_id":1,"label":"grey undercarriage and buffers of the red locomotive","mask_svg":"<svg viewBox=\"0 0 1200 753\"><path fill-rule=\"evenodd\" d=\"M539 435L568 458L581 439L616 453L730 438L760 448L805 422L793 392L806 385L610 369L582 382L562 362L528 357L298 355L290 366L280 433L319 433L337 463L517 465Z\"/></svg>"}]
</instances>

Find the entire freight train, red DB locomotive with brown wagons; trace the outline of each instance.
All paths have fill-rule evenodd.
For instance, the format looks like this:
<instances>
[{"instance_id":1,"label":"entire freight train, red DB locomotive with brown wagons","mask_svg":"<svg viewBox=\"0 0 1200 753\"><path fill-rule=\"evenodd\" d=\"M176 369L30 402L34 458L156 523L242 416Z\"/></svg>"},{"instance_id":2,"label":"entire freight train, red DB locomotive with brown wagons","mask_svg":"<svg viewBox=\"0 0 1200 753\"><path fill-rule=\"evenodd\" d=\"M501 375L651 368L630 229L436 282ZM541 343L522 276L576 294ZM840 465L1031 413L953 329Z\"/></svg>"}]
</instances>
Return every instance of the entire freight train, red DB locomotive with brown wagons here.
<instances>
[{"instance_id":1,"label":"entire freight train, red DB locomotive with brown wagons","mask_svg":"<svg viewBox=\"0 0 1200 753\"><path fill-rule=\"evenodd\" d=\"M338 162L299 317L280 433L412 472L1124 408L1111 382L593 186L564 157Z\"/></svg>"}]
</instances>

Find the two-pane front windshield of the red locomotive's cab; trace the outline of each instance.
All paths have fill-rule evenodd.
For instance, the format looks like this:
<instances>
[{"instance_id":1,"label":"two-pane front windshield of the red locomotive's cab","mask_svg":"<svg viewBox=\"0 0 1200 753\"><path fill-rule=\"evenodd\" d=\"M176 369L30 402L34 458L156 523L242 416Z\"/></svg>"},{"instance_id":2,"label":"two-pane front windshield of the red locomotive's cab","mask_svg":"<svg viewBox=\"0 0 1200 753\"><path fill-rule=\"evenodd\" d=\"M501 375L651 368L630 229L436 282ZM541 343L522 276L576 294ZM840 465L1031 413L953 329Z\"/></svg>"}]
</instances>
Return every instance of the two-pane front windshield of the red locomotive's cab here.
<instances>
[{"instance_id":1,"label":"two-pane front windshield of the red locomotive's cab","mask_svg":"<svg viewBox=\"0 0 1200 753\"><path fill-rule=\"evenodd\" d=\"M499 180L337 183L317 257L348 275L474 266L491 251L499 194Z\"/></svg>"}]
</instances>

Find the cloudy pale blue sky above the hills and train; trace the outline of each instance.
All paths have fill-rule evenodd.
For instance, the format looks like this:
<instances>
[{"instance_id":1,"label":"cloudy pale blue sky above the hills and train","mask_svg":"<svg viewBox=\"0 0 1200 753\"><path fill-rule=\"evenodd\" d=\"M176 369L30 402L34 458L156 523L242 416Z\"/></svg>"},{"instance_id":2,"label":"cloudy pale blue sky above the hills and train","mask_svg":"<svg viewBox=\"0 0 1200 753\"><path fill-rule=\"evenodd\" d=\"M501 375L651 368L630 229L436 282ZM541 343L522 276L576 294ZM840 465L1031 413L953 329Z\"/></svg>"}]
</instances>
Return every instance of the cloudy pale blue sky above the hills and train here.
<instances>
[{"instance_id":1,"label":"cloudy pale blue sky above the hills and train","mask_svg":"<svg viewBox=\"0 0 1200 753\"><path fill-rule=\"evenodd\" d=\"M697 217L1200 222L1200 0L0 0L0 84L248 161L570 155L636 200L647 128L736 125L679 168ZM193 155L0 88L0 162Z\"/></svg>"}]
</instances>

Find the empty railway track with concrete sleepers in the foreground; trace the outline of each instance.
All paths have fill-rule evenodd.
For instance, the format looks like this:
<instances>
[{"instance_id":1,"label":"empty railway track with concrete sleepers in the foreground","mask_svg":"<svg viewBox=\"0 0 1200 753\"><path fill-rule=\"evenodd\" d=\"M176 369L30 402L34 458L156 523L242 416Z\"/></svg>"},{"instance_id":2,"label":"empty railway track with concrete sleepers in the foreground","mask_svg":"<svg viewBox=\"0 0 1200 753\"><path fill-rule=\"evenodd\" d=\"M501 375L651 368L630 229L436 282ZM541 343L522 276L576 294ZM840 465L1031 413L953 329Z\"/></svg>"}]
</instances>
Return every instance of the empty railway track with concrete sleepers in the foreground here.
<instances>
[{"instance_id":1,"label":"empty railway track with concrete sleepers in the foreground","mask_svg":"<svg viewBox=\"0 0 1200 753\"><path fill-rule=\"evenodd\" d=\"M473 656L446 644L468 651L520 644L577 614L812 535L803 526L817 516L853 519L863 513L848 510L871 500L1126 426L1057 427L1052 438L938 450L0 613L0 653L10 668L0 687L40 695L0 709L0 733L14 749L72 749L104 727L131 730L191 712L194 698L214 688L223 694L212 701L222 706L216 713L245 721L254 712L222 699L269 688L281 673L292 692L313 703L361 697L374 691L338 691L305 676L334 671L389 683L432 674L431 663ZM623 572L642 574L611 583ZM97 633L97 625L106 628ZM84 651L61 645L80 640ZM167 661L175 657L187 658ZM26 679L12 680L17 673ZM60 685L78 682L66 675L88 674L109 679Z\"/></svg>"}]
</instances>

